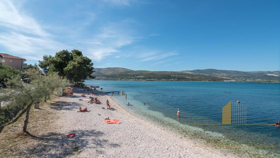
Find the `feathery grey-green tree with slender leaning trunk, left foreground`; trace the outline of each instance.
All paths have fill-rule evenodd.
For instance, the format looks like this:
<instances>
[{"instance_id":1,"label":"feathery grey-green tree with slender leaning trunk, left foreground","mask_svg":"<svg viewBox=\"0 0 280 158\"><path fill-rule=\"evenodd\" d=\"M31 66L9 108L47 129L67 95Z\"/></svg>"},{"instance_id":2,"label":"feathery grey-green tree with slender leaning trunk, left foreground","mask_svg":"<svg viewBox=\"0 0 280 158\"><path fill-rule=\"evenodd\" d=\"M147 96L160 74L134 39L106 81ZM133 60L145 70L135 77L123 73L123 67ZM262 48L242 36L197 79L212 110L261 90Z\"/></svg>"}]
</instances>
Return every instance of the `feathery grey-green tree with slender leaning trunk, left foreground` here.
<instances>
[{"instance_id":1,"label":"feathery grey-green tree with slender leaning trunk, left foreground","mask_svg":"<svg viewBox=\"0 0 280 158\"><path fill-rule=\"evenodd\" d=\"M10 105L27 105L23 126L23 132L26 133L32 104L46 99L48 95L59 95L69 81L63 80L57 74L42 75L40 71L32 68L24 71L24 73L31 79L30 84L24 84L19 75L8 79L6 81L7 88L0 89L0 99L8 99Z\"/></svg>"}]
</instances>

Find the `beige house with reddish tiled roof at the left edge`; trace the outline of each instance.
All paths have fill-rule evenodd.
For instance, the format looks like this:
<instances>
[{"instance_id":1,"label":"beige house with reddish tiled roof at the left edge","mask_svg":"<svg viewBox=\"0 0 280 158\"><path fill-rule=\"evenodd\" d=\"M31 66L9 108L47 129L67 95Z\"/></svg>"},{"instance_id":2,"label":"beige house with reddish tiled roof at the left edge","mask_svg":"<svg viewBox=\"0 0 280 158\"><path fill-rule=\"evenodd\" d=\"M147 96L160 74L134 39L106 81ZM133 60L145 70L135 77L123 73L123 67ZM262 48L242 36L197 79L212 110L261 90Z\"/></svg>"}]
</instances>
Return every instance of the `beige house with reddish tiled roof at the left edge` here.
<instances>
[{"instance_id":1,"label":"beige house with reddish tiled roof at the left edge","mask_svg":"<svg viewBox=\"0 0 280 158\"><path fill-rule=\"evenodd\" d=\"M23 58L12 56L10 54L0 53L0 63L3 65L7 65L16 69L23 70L27 66L27 63L24 63L26 61Z\"/></svg>"}]
</instances>

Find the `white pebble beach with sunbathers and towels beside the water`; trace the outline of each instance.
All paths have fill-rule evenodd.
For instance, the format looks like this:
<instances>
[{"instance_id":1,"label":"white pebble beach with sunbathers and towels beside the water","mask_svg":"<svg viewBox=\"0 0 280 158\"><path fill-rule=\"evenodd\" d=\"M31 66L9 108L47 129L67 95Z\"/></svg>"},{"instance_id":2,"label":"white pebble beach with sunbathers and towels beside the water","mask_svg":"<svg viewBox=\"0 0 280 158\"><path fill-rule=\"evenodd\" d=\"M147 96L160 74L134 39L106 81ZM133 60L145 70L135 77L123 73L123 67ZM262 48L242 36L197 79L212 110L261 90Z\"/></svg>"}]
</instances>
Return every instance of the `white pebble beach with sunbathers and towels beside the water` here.
<instances>
[{"instance_id":1,"label":"white pebble beach with sunbathers and towels beside the water","mask_svg":"<svg viewBox=\"0 0 280 158\"><path fill-rule=\"evenodd\" d=\"M69 157L233 157L209 147L192 147L200 144L140 119L107 95L98 99L103 104L88 105L88 100L79 101L75 97L59 99L65 106L60 110L58 129L64 134L76 133L69 141L76 142L81 150ZM101 108L106 107L106 99L116 111ZM80 106L90 112L77 112ZM106 124L104 117L119 119L122 123Z\"/></svg>"}]
</instances>

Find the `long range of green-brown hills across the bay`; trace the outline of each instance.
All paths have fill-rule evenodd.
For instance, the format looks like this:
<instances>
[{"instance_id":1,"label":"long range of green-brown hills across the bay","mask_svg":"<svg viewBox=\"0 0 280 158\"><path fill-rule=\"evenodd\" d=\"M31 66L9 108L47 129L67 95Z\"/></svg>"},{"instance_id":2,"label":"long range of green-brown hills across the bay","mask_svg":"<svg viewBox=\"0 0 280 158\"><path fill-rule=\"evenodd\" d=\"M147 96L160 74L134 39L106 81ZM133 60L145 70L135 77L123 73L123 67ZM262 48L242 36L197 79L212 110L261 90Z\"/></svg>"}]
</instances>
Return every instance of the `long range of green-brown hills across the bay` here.
<instances>
[{"instance_id":1,"label":"long range of green-brown hills across the bay","mask_svg":"<svg viewBox=\"0 0 280 158\"><path fill-rule=\"evenodd\" d=\"M97 78L110 78L113 80L192 80L192 81L222 81L227 79L261 79L280 80L280 71L233 71L233 70L185 70L185 71L146 71L130 70L126 68L95 68L92 75Z\"/></svg>"}]
</instances>

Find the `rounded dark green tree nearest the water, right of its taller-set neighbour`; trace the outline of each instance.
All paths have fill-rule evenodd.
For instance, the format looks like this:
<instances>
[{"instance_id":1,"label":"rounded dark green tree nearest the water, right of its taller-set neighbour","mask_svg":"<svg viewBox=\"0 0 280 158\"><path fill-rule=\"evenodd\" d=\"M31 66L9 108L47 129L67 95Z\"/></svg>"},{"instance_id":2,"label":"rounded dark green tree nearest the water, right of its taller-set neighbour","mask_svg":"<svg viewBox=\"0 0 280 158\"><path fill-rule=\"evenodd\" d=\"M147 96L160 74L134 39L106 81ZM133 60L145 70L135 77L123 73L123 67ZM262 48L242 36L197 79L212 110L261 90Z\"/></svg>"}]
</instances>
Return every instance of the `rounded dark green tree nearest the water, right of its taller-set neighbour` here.
<instances>
[{"instance_id":1,"label":"rounded dark green tree nearest the water, right of its taller-set neighbour","mask_svg":"<svg viewBox=\"0 0 280 158\"><path fill-rule=\"evenodd\" d=\"M68 80L77 83L87 78L94 78L91 75L94 72L92 66L91 59L82 54L74 54L73 60L64 68L64 73Z\"/></svg>"}]
</instances>

